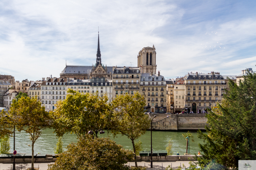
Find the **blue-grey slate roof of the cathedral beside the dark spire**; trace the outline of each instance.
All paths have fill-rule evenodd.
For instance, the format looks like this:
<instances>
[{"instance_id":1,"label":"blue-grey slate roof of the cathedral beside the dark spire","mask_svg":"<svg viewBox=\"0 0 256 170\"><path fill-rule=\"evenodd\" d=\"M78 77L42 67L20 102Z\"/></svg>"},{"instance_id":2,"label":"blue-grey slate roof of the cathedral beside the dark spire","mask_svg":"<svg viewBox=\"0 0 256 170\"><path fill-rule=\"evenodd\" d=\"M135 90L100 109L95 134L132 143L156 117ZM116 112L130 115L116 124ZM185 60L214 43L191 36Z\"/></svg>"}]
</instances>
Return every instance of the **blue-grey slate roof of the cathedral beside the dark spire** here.
<instances>
[{"instance_id":1,"label":"blue-grey slate roof of the cathedral beside the dark spire","mask_svg":"<svg viewBox=\"0 0 256 170\"><path fill-rule=\"evenodd\" d=\"M88 70L93 70L93 66L66 66L61 75L63 74L87 74ZM113 67L107 66L108 73L112 73Z\"/></svg>"}]
</instances>

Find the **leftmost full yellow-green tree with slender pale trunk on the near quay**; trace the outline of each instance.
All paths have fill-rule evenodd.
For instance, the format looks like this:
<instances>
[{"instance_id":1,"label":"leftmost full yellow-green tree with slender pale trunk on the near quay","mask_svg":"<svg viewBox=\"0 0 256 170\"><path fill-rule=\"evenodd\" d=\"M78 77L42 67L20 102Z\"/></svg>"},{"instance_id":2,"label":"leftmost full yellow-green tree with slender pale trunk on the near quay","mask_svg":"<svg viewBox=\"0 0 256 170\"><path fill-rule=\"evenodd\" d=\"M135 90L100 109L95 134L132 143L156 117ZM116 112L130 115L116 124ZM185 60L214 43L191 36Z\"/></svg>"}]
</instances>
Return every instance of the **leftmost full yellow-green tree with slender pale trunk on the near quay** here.
<instances>
[{"instance_id":1,"label":"leftmost full yellow-green tree with slender pale trunk on the near quay","mask_svg":"<svg viewBox=\"0 0 256 170\"><path fill-rule=\"evenodd\" d=\"M26 98L22 96L18 101L13 100L9 110L9 117L13 120L19 132L24 130L29 134L32 142L31 169L33 170L34 144L42 134L42 131L48 128L50 123L52 123L50 115L36 98Z\"/></svg>"}]
</instances>

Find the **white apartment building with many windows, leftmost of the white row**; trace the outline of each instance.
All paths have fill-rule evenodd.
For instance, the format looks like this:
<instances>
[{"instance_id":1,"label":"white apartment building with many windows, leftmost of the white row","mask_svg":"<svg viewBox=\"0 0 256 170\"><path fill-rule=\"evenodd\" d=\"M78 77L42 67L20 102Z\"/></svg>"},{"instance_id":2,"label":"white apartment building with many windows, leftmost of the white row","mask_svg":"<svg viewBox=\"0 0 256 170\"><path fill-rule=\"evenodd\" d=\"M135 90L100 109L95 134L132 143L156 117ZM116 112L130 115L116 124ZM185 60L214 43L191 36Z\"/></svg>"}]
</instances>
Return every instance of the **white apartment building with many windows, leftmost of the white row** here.
<instances>
[{"instance_id":1,"label":"white apartment building with many windows, leftmost of the white row","mask_svg":"<svg viewBox=\"0 0 256 170\"><path fill-rule=\"evenodd\" d=\"M67 96L67 79L64 78L47 78L41 84L41 102L45 110L53 111L54 104L59 100L64 100Z\"/></svg>"}]
</instances>

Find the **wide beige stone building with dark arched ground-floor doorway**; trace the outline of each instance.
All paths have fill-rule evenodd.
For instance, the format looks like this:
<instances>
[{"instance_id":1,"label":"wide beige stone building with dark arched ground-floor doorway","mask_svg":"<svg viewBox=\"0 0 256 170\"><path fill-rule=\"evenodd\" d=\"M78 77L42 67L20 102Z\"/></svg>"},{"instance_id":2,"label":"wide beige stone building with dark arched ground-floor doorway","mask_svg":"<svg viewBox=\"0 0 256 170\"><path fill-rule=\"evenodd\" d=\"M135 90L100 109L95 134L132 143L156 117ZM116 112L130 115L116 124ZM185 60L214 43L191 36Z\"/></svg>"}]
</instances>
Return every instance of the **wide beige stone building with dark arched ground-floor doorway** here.
<instances>
[{"instance_id":1,"label":"wide beige stone building with dark arched ground-floor doorway","mask_svg":"<svg viewBox=\"0 0 256 170\"><path fill-rule=\"evenodd\" d=\"M221 102L226 87L219 72L188 74L185 76L185 106L188 111L202 113Z\"/></svg>"}]
</instances>

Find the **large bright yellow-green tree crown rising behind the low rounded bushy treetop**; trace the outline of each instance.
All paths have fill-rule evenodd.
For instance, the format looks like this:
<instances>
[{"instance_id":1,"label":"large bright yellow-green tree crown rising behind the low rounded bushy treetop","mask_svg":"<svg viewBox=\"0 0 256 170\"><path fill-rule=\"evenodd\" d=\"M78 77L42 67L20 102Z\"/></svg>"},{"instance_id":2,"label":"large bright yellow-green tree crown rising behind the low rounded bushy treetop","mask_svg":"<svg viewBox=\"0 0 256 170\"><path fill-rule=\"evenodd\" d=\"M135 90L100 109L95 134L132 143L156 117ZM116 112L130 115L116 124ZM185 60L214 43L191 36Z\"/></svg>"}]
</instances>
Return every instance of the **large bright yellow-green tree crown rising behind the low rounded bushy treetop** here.
<instances>
[{"instance_id":1,"label":"large bright yellow-green tree crown rising behind the low rounded bushy treetop","mask_svg":"<svg viewBox=\"0 0 256 170\"><path fill-rule=\"evenodd\" d=\"M53 128L57 137L65 133L75 133L78 138L84 137L89 130L103 129L108 122L108 97L98 94L81 94L69 89L67 98L56 104Z\"/></svg>"}]
</instances>

